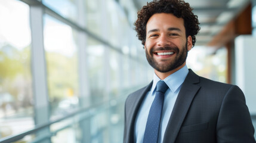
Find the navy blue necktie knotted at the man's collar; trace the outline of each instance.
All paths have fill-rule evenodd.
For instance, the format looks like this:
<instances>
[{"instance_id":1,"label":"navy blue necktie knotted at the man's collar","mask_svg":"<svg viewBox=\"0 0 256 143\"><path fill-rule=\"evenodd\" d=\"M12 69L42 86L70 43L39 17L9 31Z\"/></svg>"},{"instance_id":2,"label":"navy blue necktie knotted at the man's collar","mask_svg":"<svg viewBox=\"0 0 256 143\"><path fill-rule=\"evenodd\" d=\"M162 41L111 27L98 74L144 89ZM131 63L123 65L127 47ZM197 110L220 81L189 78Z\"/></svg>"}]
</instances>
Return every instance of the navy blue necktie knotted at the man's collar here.
<instances>
[{"instance_id":1,"label":"navy blue necktie knotted at the man's collar","mask_svg":"<svg viewBox=\"0 0 256 143\"><path fill-rule=\"evenodd\" d=\"M156 84L156 95L149 110L149 117L147 117L147 124L144 133L143 143L158 142L158 132L165 98L164 95L167 89L168 86L163 80L160 80Z\"/></svg>"}]
</instances>

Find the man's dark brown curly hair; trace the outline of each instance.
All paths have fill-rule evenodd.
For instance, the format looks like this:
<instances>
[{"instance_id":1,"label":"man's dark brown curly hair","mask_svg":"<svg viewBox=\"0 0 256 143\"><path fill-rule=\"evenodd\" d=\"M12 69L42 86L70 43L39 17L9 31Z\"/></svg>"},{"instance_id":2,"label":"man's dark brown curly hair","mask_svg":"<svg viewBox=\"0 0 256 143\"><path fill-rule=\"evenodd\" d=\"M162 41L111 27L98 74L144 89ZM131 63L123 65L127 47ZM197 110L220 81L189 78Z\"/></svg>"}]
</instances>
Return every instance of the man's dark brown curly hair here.
<instances>
[{"instance_id":1,"label":"man's dark brown curly hair","mask_svg":"<svg viewBox=\"0 0 256 143\"><path fill-rule=\"evenodd\" d=\"M192 36L192 44L195 46L196 36L200 30L198 16L192 13L193 8L189 3L182 0L153 0L147 2L140 11L138 11L138 19L135 21L135 31L142 45L146 41L146 24L150 17L156 13L170 13L175 17L183 18L184 27L186 29L186 37Z\"/></svg>"}]
</instances>

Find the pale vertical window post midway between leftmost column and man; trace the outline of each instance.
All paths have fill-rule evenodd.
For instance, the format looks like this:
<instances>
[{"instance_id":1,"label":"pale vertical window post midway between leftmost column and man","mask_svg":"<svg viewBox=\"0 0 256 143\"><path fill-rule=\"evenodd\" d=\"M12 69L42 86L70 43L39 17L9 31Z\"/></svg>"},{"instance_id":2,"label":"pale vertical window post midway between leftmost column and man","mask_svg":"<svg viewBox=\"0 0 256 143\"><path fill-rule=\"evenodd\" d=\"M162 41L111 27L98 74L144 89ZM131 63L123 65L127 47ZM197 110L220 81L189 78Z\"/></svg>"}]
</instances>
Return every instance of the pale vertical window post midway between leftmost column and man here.
<instances>
[{"instance_id":1,"label":"pale vertical window post midway between leftmost column and man","mask_svg":"<svg viewBox=\"0 0 256 143\"><path fill-rule=\"evenodd\" d=\"M77 0L78 5L78 23L81 26L86 26L86 6L84 0ZM90 107L90 83L88 78L88 58L87 58L87 39L85 32L78 32L78 75L79 75L79 103L80 107ZM91 142L91 117L79 122L81 128L81 142Z\"/></svg>"}]
</instances>

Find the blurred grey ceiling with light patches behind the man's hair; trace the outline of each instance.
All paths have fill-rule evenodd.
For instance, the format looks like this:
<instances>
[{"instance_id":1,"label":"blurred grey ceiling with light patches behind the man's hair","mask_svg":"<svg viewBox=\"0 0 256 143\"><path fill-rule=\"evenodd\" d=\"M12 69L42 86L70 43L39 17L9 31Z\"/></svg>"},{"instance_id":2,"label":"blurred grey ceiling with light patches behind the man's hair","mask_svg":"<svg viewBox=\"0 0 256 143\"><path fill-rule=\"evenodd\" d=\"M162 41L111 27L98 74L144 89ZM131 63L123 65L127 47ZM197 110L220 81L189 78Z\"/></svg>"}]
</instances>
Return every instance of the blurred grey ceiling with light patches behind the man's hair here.
<instances>
[{"instance_id":1,"label":"blurred grey ceiling with light patches behind the man's hair","mask_svg":"<svg viewBox=\"0 0 256 143\"><path fill-rule=\"evenodd\" d=\"M250 0L185 0L198 15L201 30L196 36L196 46L207 45L214 36L223 30L230 20L236 17ZM133 0L137 10L146 5L147 0Z\"/></svg>"}]
</instances>

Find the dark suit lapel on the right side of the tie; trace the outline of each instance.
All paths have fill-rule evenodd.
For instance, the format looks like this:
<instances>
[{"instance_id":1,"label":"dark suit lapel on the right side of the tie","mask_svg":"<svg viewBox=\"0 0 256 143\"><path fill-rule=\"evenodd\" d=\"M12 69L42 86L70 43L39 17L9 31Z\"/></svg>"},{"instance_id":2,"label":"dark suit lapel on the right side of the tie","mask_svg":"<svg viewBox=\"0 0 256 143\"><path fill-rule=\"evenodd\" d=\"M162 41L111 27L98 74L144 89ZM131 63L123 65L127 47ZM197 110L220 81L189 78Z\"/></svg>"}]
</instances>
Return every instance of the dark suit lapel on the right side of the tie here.
<instances>
[{"instance_id":1,"label":"dark suit lapel on the right side of the tie","mask_svg":"<svg viewBox=\"0 0 256 143\"><path fill-rule=\"evenodd\" d=\"M198 92L201 87L194 84L198 82L199 76L190 70L189 74L187 74L187 77L184 80L184 83L180 89L180 93L178 94L177 100L174 104L171 117L165 130L163 141L164 143L175 141L183 120L186 117L187 111L189 110L190 104L192 103L196 92Z\"/></svg>"}]
</instances>

